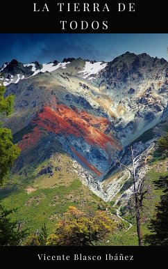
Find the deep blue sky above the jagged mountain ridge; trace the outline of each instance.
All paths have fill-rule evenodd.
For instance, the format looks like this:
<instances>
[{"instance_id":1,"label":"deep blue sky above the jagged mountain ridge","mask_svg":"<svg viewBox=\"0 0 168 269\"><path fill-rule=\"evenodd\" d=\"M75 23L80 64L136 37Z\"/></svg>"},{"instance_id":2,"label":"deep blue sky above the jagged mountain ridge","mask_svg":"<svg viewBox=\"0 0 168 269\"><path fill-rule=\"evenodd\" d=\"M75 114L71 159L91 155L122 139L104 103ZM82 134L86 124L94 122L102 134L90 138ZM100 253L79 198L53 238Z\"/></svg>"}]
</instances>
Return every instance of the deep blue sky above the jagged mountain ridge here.
<instances>
[{"instance_id":1,"label":"deep blue sky above the jagged mountain ridge","mask_svg":"<svg viewBox=\"0 0 168 269\"><path fill-rule=\"evenodd\" d=\"M68 57L112 61L128 51L168 60L167 47L167 33L1 33L0 66L12 59L22 63Z\"/></svg>"}]
</instances>

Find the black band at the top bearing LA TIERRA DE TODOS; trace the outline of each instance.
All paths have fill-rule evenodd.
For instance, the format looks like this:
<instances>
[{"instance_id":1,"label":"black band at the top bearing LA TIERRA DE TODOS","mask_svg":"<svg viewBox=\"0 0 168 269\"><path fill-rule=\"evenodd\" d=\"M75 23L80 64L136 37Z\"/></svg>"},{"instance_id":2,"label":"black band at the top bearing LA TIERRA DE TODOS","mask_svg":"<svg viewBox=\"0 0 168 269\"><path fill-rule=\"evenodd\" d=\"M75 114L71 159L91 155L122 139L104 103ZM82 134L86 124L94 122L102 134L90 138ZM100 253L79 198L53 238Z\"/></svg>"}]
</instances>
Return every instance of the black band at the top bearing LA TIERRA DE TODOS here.
<instances>
[{"instance_id":1,"label":"black band at the top bearing LA TIERRA DE TODOS","mask_svg":"<svg viewBox=\"0 0 168 269\"><path fill-rule=\"evenodd\" d=\"M58 12L57 3L99 3L108 4L110 12ZM33 3L37 7L47 3L49 12L33 12ZM125 3L126 10L118 12L118 3ZM128 3L135 3L135 12L128 12ZM167 33L168 1L159 0L3 0L0 6L1 33ZM60 20L81 22L86 20L89 27L81 30L62 30ZM99 21L100 27L92 29L91 23ZM103 20L108 20L108 29L102 30Z\"/></svg>"}]
</instances>

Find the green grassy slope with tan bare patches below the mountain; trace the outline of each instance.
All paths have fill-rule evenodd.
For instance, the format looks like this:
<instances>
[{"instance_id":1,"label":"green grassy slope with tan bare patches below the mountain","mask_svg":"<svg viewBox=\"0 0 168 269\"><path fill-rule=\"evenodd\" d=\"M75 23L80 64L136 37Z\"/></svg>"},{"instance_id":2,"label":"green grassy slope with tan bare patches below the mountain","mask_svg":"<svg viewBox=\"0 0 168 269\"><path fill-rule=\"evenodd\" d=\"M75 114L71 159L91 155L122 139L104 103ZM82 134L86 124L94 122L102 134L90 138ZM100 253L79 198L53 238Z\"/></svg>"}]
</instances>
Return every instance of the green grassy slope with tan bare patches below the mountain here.
<instances>
[{"instance_id":1,"label":"green grassy slope with tan bare patches below the mountain","mask_svg":"<svg viewBox=\"0 0 168 269\"><path fill-rule=\"evenodd\" d=\"M66 165L65 165L66 164ZM12 216L17 220L24 220L31 233L40 229L46 223L51 233L56 221L65 213L69 206L87 210L97 209L98 204L106 207L99 197L96 197L85 187L70 169L72 160L61 154L59 167L61 171L53 171L53 176L37 176L42 167L29 171L28 176L11 176L0 188L0 199L6 208L18 208Z\"/></svg>"}]
</instances>

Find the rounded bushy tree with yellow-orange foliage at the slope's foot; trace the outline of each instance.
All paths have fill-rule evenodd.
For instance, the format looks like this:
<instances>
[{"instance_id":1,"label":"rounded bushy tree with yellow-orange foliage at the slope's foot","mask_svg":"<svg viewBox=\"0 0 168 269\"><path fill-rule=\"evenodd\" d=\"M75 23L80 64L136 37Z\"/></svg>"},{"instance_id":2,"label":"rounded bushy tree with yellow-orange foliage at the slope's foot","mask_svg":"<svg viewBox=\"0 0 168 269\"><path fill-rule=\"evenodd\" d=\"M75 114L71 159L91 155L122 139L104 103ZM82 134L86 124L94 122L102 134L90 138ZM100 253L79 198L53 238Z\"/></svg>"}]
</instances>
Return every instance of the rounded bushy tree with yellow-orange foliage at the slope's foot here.
<instances>
[{"instance_id":1,"label":"rounded bushy tree with yellow-orange foliage at the slope's foot","mask_svg":"<svg viewBox=\"0 0 168 269\"><path fill-rule=\"evenodd\" d=\"M55 233L47 239L47 245L94 245L107 238L115 229L114 222L105 212L98 210L84 213L74 206L56 224Z\"/></svg>"}]
</instances>

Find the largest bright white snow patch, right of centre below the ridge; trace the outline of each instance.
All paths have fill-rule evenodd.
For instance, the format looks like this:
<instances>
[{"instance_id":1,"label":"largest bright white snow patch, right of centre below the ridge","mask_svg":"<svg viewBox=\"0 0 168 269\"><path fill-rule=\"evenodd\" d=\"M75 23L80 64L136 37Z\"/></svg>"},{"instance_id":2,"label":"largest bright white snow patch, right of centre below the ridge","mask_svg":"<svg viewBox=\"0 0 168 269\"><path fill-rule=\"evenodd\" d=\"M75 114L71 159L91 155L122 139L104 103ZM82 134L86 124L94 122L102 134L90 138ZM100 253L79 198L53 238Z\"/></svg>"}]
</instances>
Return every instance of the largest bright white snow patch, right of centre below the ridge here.
<instances>
[{"instance_id":1,"label":"largest bright white snow patch, right of centre below the ridge","mask_svg":"<svg viewBox=\"0 0 168 269\"><path fill-rule=\"evenodd\" d=\"M79 71L78 73L83 73L83 79L86 79L90 75L98 74L101 70L106 68L108 63L103 63L101 61L98 61L96 63L91 63L90 61L85 62L85 68L82 71ZM94 77L91 77L90 79L93 79Z\"/></svg>"}]
</instances>

